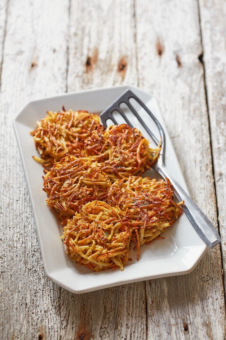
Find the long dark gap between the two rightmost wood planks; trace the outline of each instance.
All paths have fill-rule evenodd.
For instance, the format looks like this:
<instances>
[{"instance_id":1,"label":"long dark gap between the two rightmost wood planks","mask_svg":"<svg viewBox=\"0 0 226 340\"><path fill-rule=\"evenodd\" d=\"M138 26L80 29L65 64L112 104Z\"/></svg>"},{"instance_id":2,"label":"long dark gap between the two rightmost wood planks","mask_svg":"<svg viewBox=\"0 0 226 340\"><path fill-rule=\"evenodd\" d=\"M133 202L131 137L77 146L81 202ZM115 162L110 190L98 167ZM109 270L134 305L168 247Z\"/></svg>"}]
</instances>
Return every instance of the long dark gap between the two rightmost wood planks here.
<instances>
[{"instance_id":1,"label":"long dark gap between the two rightmost wood planks","mask_svg":"<svg viewBox=\"0 0 226 340\"><path fill-rule=\"evenodd\" d=\"M199 13L199 27L200 27L201 46L202 46L202 58L201 58L200 62L203 65L204 90L205 90L207 116L208 116L208 129L209 129L209 136L210 136L210 152L211 152L211 160L212 160L213 185L214 185L215 200L216 200L216 214L217 214L218 232L219 232L219 235L221 236L220 221L219 221L219 210L218 210L218 197L217 197L217 194L216 194L216 180L215 180L215 171L214 171L214 162L213 162L212 135L211 135L211 128L210 128L209 104L208 104L208 94L207 94L207 84L206 84L206 70L205 70L205 61L204 61L204 48L203 48L202 27L201 27L201 12L200 12L199 0L197 0L197 5L198 5L198 13ZM222 244L221 243L220 243L220 253L221 253L222 280L223 280L223 287L224 287L224 303L225 303L225 309L226 309L225 273L224 273L224 263L223 263L223 250L222 250Z\"/></svg>"}]
</instances>

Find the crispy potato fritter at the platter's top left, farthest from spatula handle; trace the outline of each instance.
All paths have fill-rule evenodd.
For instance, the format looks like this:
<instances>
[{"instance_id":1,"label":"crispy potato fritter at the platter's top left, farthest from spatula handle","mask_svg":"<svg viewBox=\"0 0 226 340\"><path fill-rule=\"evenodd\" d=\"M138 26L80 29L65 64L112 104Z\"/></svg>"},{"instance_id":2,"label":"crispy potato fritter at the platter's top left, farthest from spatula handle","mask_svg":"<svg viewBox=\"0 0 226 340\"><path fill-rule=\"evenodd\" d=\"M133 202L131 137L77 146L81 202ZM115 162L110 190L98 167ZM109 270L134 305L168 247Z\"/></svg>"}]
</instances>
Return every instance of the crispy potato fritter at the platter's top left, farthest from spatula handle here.
<instances>
[{"instance_id":1,"label":"crispy potato fritter at the platter's top left, farthest from spatula handle","mask_svg":"<svg viewBox=\"0 0 226 340\"><path fill-rule=\"evenodd\" d=\"M40 157L33 158L44 167L53 166L61 158L68 155L79 155L84 149L83 141L93 131L104 131L99 116L87 111L47 112L48 115L37 128L31 131Z\"/></svg>"}]
</instances>

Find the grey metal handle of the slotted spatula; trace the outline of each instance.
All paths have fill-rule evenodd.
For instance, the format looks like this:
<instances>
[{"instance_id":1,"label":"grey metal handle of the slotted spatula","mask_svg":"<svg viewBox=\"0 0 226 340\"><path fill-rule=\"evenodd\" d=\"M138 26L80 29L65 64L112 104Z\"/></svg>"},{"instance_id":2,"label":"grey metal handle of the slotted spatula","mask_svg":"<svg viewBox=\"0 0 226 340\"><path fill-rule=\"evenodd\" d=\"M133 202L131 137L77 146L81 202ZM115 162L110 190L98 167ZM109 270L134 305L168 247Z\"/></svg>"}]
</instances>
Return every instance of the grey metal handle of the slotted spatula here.
<instances>
[{"instance_id":1,"label":"grey metal handle of the slotted spatula","mask_svg":"<svg viewBox=\"0 0 226 340\"><path fill-rule=\"evenodd\" d=\"M184 200L182 205L185 214L189 218L191 224L195 228L196 232L202 238L202 240L210 247L213 248L215 245L221 242L220 235L216 231L213 224L206 217L204 212L192 201L189 195L184 191L180 184L173 178L165 165L157 165L154 167L158 173L164 178L168 178L173 185L173 191L176 198L179 201Z\"/></svg>"}]
</instances>

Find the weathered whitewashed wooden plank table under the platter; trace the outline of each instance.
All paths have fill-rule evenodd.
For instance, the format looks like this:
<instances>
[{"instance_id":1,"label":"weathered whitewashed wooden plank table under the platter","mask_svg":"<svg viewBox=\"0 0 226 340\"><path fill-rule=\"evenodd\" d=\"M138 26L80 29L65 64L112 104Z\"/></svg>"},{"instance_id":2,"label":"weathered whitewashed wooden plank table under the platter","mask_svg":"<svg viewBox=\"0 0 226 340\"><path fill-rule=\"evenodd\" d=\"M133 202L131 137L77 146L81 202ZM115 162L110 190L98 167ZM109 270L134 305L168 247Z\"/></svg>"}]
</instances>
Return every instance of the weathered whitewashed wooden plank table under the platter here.
<instances>
[{"instance_id":1,"label":"weathered whitewashed wooden plank table under the platter","mask_svg":"<svg viewBox=\"0 0 226 340\"><path fill-rule=\"evenodd\" d=\"M226 338L225 17L223 0L1 0L2 339ZM45 277L12 119L31 100L113 84L158 99L222 243L191 274L75 295Z\"/></svg>"}]
</instances>

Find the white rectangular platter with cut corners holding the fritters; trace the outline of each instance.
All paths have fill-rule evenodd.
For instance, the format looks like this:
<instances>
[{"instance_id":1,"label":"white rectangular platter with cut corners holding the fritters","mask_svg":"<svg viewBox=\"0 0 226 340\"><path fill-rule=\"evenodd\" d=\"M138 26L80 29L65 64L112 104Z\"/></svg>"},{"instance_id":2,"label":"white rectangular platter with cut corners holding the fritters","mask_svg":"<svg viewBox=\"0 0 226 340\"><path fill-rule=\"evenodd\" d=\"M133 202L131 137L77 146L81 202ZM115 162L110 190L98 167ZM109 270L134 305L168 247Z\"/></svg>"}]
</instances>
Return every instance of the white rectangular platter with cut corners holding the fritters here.
<instances>
[{"instance_id":1,"label":"white rectangular platter with cut corners holding the fritters","mask_svg":"<svg viewBox=\"0 0 226 340\"><path fill-rule=\"evenodd\" d=\"M156 99L134 86L99 88L36 100L26 105L14 120L14 130L30 195L45 274L59 286L74 293L84 293L157 277L190 273L207 248L193 229L185 213L182 213L176 223L162 234L164 239L156 240L151 245L141 247L139 261L136 261L136 252L131 249L130 257L132 261L127 263L122 272L118 269L95 273L76 265L66 255L65 245L60 240L62 226L58 222L53 209L47 206L45 202L46 194L42 191L43 168L32 158L33 155L38 156L38 153L35 150L30 131L35 129L37 120L44 118L46 111L59 111L62 105L66 110L71 108L73 110L87 110L90 113L100 113L127 88L131 89L148 106L163 125L166 134L166 166L188 192ZM136 108L146 124L157 134L151 119L146 116L142 109ZM150 140L146 131L132 114L130 121ZM121 122L123 121L119 121L119 123ZM151 143L151 145L153 144ZM160 178L154 170L146 172L145 176Z\"/></svg>"}]
</instances>

